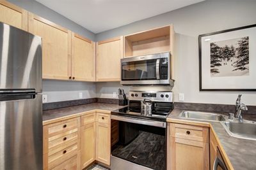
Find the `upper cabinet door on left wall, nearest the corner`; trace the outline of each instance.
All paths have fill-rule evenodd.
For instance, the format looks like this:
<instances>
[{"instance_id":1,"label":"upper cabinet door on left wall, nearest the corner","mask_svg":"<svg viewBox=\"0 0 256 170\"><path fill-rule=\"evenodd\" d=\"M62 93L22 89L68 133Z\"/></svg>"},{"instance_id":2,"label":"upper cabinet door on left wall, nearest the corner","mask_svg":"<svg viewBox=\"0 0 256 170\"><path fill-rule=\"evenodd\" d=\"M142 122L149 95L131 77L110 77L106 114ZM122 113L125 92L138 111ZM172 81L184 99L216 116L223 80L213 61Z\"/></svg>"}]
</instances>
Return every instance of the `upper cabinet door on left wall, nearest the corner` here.
<instances>
[{"instance_id":1,"label":"upper cabinet door on left wall, nearest the corner","mask_svg":"<svg viewBox=\"0 0 256 170\"><path fill-rule=\"evenodd\" d=\"M72 32L72 79L95 81L95 43Z\"/></svg>"}]
</instances>

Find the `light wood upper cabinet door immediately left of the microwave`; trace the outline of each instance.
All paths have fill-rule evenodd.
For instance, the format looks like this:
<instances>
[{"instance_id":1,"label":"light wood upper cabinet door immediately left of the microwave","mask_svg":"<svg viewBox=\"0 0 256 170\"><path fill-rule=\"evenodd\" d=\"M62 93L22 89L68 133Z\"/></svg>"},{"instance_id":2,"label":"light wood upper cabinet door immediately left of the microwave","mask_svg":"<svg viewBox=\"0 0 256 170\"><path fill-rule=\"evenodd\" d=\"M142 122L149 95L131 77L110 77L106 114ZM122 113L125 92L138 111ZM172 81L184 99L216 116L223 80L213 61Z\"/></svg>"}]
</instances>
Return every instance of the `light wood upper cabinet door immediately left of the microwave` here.
<instances>
[{"instance_id":1,"label":"light wood upper cabinet door immediately left of the microwave","mask_svg":"<svg viewBox=\"0 0 256 170\"><path fill-rule=\"evenodd\" d=\"M96 81L120 81L123 38L97 42Z\"/></svg>"}]
</instances>

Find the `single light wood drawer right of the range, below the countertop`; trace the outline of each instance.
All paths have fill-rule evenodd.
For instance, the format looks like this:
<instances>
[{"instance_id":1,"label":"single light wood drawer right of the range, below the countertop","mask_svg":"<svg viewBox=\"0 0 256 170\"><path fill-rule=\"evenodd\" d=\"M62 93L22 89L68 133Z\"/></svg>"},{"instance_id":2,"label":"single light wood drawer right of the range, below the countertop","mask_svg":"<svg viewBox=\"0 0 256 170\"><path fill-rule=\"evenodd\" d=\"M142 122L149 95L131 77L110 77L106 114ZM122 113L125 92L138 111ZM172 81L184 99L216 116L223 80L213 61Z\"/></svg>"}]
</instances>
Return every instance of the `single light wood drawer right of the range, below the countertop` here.
<instances>
[{"instance_id":1,"label":"single light wood drawer right of the range, below the countertop","mask_svg":"<svg viewBox=\"0 0 256 170\"><path fill-rule=\"evenodd\" d=\"M184 124L170 124L170 135L175 138L209 143L208 127Z\"/></svg>"}]
</instances>

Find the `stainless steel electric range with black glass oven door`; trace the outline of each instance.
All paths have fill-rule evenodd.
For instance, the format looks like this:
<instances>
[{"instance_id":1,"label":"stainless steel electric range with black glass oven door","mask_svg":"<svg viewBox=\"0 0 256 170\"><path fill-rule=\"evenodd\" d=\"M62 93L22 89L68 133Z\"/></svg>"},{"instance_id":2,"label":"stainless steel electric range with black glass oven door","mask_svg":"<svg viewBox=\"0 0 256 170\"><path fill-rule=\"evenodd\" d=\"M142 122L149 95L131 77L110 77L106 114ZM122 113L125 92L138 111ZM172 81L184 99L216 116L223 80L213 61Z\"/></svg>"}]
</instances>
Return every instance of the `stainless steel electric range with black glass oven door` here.
<instances>
[{"instance_id":1,"label":"stainless steel electric range with black glass oven door","mask_svg":"<svg viewBox=\"0 0 256 170\"><path fill-rule=\"evenodd\" d=\"M152 115L141 115L141 101ZM166 169L166 118L172 92L130 91L129 106L111 111L111 170Z\"/></svg>"}]
</instances>

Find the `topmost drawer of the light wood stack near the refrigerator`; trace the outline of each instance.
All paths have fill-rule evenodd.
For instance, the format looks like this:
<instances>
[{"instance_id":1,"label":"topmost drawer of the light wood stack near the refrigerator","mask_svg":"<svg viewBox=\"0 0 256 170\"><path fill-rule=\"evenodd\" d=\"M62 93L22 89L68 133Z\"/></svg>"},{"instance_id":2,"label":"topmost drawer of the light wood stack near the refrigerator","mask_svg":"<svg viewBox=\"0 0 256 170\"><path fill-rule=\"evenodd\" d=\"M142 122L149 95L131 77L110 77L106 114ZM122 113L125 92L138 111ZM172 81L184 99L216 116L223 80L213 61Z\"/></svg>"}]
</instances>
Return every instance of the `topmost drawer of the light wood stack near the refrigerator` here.
<instances>
[{"instance_id":1,"label":"topmost drawer of the light wood stack near the refrigerator","mask_svg":"<svg viewBox=\"0 0 256 170\"><path fill-rule=\"evenodd\" d=\"M64 121L49 125L48 137L51 138L52 136L56 136L63 132L67 132L72 129L76 129L79 124L79 118L72 118L69 120L64 120Z\"/></svg>"}]
</instances>

